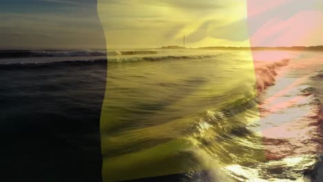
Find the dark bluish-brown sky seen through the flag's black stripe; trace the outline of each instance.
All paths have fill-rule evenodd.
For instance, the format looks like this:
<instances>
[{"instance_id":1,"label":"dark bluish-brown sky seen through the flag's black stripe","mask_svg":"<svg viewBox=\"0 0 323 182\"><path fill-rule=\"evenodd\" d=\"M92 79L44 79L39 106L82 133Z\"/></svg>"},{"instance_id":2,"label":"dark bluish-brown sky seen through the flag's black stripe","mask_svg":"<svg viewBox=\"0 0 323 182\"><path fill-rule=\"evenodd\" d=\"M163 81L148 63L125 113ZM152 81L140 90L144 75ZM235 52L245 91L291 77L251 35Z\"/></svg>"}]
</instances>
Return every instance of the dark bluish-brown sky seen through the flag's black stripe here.
<instances>
[{"instance_id":1,"label":"dark bluish-brown sky seen through the flag's black stripe","mask_svg":"<svg viewBox=\"0 0 323 182\"><path fill-rule=\"evenodd\" d=\"M96 0L1 0L0 49L106 48Z\"/></svg>"}]
</instances>

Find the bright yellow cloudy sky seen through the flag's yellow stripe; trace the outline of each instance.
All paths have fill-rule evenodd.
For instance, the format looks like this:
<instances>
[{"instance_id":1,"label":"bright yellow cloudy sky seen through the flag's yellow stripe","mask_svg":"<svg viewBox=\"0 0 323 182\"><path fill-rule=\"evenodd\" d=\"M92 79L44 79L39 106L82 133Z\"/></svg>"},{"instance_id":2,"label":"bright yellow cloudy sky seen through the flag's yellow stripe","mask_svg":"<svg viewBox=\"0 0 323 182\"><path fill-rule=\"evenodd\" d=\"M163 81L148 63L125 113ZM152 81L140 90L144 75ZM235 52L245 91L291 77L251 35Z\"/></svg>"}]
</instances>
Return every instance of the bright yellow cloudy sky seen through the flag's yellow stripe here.
<instances>
[{"instance_id":1,"label":"bright yellow cloudy sky seen through the flag's yellow stripe","mask_svg":"<svg viewBox=\"0 0 323 182\"><path fill-rule=\"evenodd\" d=\"M99 0L98 2L99 17L106 36L110 37L110 45L121 46L121 42L128 45L140 44L144 47L179 45L182 44L184 34L190 43L197 43L206 37L242 40L241 37L236 35L233 37L232 34L226 33L227 26L237 25L234 23L245 18L241 17L241 12L246 9L246 4L240 0ZM211 32L213 30L219 32L221 29L222 33Z\"/></svg>"}]
</instances>

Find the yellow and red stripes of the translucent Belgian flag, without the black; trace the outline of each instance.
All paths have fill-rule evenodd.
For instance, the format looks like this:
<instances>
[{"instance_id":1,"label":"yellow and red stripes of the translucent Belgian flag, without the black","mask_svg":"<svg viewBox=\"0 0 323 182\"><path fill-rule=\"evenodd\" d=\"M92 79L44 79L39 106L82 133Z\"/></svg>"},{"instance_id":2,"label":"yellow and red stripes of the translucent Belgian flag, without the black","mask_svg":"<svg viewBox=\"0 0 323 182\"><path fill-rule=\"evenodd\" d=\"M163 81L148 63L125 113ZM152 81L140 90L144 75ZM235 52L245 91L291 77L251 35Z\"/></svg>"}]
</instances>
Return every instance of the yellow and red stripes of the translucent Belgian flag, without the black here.
<instances>
[{"instance_id":1,"label":"yellow and red stripes of the translucent Belgian flag, without the black","mask_svg":"<svg viewBox=\"0 0 323 182\"><path fill-rule=\"evenodd\" d=\"M275 181L283 178L282 174L262 174L268 166L275 166L271 164L274 160L311 161L313 156L309 155L320 150L318 143L308 144L309 133L317 130L309 126L317 120L309 121L309 117L318 111L306 105L313 96L304 91L309 90L302 85L306 77L294 79L290 74L315 66L320 57L309 54L309 50L319 47L304 47L322 43L320 6L319 1L288 0L99 1L108 50L131 48L131 54L138 54L137 61L158 61L149 63L155 69L148 63L138 68L116 68L115 61L128 61L123 56L129 52L119 52L117 58L111 54L109 59L108 55L109 73L101 112L104 181L149 177L148 181L154 181L158 178L151 177L155 176L184 181L230 181L231 177ZM222 54L231 50L233 55L218 54L218 63L206 69L186 65L195 64L190 55L197 54L197 50L186 49L182 56L184 53L161 53L164 50L157 49L157 55L150 57L135 51L181 45L183 35L186 48L213 50L206 51L208 55L215 54L215 50L224 50ZM205 59L200 65L215 59L200 56ZM284 68L301 58L307 63ZM167 62L176 59L190 61L181 62L180 67ZM163 69L162 61L171 67ZM183 74L185 69L190 74ZM141 72L152 75L147 77ZM120 77L127 79L117 84L116 78ZM188 88L179 86L184 84L179 81L196 78L199 79L187 83ZM241 84L243 81L246 83ZM161 90L149 84L162 84ZM294 107L301 111L294 113ZM291 172L285 178L302 176L297 175Z\"/></svg>"}]
</instances>

